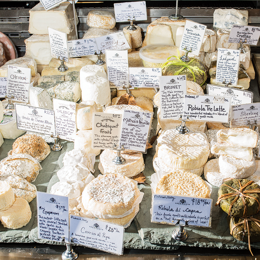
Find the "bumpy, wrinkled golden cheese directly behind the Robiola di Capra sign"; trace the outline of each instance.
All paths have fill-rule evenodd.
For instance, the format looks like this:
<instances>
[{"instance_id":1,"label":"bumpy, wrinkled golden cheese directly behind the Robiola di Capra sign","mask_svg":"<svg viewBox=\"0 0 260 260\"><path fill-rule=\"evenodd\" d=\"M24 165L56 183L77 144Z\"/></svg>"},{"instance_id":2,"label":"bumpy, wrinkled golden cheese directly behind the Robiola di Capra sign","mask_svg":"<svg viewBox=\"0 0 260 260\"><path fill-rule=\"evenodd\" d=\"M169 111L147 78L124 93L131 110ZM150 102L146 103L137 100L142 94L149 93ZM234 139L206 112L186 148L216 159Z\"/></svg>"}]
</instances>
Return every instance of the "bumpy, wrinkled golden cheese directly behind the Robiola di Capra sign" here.
<instances>
[{"instance_id":1,"label":"bumpy, wrinkled golden cheese directly behind the Robiola di Capra sign","mask_svg":"<svg viewBox=\"0 0 260 260\"><path fill-rule=\"evenodd\" d=\"M208 198L210 194L204 180L200 176L189 172L166 173L158 182L156 192L200 198Z\"/></svg>"}]
</instances>

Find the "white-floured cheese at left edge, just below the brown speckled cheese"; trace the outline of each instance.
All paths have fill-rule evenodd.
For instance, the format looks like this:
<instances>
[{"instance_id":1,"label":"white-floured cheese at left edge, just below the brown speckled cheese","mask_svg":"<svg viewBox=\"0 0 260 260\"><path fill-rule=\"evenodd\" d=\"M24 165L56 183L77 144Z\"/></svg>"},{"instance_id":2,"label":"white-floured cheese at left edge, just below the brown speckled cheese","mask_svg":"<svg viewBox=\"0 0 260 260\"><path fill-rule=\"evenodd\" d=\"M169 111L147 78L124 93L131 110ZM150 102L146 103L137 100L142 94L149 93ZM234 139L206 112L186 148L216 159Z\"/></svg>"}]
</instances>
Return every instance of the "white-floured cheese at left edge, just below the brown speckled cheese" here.
<instances>
[{"instance_id":1,"label":"white-floured cheese at left edge, just below the brown speckled cheese","mask_svg":"<svg viewBox=\"0 0 260 260\"><path fill-rule=\"evenodd\" d=\"M17 175L28 182L35 181L42 167L39 162L29 154L13 154L0 162L0 177Z\"/></svg>"}]
</instances>

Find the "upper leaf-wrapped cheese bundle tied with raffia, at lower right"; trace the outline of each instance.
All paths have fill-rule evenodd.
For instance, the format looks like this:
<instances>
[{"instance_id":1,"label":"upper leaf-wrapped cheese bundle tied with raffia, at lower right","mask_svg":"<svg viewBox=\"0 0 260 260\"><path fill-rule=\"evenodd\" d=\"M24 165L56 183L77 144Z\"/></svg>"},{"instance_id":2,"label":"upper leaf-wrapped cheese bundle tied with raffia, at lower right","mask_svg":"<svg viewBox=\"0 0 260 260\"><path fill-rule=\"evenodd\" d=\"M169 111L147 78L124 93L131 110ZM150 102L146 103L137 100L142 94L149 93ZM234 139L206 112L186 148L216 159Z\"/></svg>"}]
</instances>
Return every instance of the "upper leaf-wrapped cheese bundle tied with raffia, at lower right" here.
<instances>
[{"instance_id":1,"label":"upper leaf-wrapped cheese bundle tied with raffia, at lower right","mask_svg":"<svg viewBox=\"0 0 260 260\"><path fill-rule=\"evenodd\" d=\"M254 181L231 179L218 190L219 205L231 217L248 217L260 208L260 188Z\"/></svg>"}]
</instances>

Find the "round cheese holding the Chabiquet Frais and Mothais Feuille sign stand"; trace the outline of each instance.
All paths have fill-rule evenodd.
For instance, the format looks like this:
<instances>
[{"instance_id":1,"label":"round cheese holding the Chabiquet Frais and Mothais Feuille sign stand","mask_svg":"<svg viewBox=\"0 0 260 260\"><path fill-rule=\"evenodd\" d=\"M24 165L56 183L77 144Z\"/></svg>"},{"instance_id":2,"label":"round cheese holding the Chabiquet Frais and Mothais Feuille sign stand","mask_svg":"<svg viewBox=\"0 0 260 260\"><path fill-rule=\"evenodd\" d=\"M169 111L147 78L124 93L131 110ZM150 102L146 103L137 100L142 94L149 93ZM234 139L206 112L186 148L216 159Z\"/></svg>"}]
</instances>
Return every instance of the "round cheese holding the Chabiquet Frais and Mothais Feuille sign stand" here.
<instances>
[{"instance_id":1,"label":"round cheese holding the Chabiquet Frais and Mothais Feuille sign stand","mask_svg":"<svg viewBox=\"0 0 260 260\"><path fill-rule=\"evenodd\" d=\"M122 154L126 162L121 165L116 165L112 162L116 156L116 151L108 149L100 154L98 169L102 174L120 173L127 177L133 177L144 170L142 153Z\"/></svg>"}]
</instances>

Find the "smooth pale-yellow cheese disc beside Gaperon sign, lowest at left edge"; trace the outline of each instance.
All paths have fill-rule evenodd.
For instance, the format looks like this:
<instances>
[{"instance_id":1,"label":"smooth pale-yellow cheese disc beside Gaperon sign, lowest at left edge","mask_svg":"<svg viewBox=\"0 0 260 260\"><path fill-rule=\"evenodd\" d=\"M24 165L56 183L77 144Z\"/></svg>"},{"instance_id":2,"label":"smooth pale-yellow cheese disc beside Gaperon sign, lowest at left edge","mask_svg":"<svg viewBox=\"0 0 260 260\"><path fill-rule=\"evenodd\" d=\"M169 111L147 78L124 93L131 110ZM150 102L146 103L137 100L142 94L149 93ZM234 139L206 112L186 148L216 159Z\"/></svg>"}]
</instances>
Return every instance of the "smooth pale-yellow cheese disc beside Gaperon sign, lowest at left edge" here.
<instances>
[{"instance_id":1,"label":"smooth pale-yellow cheese disc beside Gaperon sign, lowest at left edge","mask_svg":"<svg viewBox=\"0 0 260 260\"><path fill-rule=\"evenodd\" d=\"M15 198L13 205L0 211L0 220L5 228L17 229L29 223L32 212L29 203L22 198Z\"/></svg>"}]
</instances>

